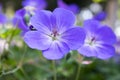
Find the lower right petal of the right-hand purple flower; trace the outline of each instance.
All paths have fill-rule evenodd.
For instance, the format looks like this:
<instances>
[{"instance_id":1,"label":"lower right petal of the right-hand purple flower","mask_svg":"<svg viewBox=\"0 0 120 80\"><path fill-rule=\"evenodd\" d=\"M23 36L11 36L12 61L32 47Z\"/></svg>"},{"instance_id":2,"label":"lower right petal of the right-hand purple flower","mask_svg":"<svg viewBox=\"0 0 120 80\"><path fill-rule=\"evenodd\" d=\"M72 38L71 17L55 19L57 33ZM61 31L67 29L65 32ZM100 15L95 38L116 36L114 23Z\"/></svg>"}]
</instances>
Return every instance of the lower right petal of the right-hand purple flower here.
<instances>
[{"instance_id":1,"label":"lower right petal of the right-hand purple flower","mask_svg":"<svg viewBox=\"0 0 120 80\"><path fill-rule=\"evenodd\" d=\"M96 48L97 56L100 59L108 59L115 54L115 48L111 45L102 44Z\"/></svg>"}]
</instances>

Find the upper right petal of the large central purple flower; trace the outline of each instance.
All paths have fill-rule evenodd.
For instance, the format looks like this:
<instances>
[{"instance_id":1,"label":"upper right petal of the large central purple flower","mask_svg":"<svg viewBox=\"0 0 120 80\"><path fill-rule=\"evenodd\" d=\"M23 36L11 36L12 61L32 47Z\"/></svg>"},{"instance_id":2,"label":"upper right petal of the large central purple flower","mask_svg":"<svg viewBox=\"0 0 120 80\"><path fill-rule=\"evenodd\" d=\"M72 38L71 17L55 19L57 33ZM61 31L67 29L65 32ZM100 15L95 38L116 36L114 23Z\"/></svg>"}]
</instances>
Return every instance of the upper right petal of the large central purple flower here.
<instances>
[{"instance_id":1,"label":"upper right petal of the large central purple flower","mask_svg":"<svg viewBox=\"0 0 120 80\"><path fill-rule=\"evenodd\" d=\"M64 32L68 28L71 28L75 23L75 16L69 10L56 8L53 11L53 15L56 18L56 26L54 27L57 27L60 33Z\"/></svg>"}]
</instances>

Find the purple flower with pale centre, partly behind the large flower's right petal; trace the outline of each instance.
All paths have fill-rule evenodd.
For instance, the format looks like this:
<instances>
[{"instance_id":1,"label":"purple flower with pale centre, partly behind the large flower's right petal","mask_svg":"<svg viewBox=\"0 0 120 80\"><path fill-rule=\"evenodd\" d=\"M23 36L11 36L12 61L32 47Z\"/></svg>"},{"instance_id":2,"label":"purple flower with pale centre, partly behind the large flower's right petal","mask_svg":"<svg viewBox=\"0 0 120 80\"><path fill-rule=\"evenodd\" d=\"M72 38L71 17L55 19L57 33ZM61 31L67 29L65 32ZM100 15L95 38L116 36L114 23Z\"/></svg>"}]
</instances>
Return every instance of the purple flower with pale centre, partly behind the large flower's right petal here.
<instances>
[{"instance_id":1,"label":"purple flower with pale centre, partly behind the large flower's right petal","mask_svg":"<svg viewBox=\"0 0 120 80\"><path fill-rule=\"evenodd\" d=\"M108 26L101 25L96 20L86 20L84 29L86 39L84 45L78 49L79 53L100 59L108 59L114 55L113 44L116 42L116 36Z\"/></svg>"}]
</instances>

